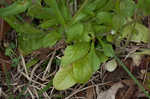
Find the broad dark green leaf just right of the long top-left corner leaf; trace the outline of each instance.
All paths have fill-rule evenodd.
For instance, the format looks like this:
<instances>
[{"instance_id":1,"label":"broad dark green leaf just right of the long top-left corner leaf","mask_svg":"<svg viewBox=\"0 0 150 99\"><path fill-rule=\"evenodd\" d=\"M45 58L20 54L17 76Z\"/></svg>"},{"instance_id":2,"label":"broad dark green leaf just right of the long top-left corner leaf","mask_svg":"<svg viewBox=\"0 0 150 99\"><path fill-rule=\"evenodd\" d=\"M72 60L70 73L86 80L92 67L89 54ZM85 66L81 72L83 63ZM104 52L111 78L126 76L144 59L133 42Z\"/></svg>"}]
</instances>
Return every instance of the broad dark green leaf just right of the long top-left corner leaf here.
<instances>
[{"instance_id":1,"label":"broad dark green leaf just right of the long top-left corner leaf","mask_svg":"<svg viewBox=\"0 0 150 99\"><path fill-rule=\"evenodd\" d=\"M50 8L44 8L39 4L34 4L28 9L29 16L32 16L37 19L50 19L53 18L53 12Z\"/></svg>"}]
</instances>

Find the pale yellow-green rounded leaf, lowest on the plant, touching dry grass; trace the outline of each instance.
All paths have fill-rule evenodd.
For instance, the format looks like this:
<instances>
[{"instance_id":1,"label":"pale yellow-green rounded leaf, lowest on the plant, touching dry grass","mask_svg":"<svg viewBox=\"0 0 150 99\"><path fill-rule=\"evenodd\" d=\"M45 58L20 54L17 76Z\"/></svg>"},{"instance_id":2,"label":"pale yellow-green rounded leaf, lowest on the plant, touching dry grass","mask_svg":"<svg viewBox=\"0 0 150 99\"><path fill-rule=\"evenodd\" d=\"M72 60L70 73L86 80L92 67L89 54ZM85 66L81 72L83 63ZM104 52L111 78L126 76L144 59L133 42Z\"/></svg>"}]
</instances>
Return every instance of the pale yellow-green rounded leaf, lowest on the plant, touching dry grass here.
<instances>
[{"instance_id":1,"label":"pale yellow-green rounded leaf, lowest on the plant, touching dry grass","mask_svg":"<svg viewBox=\"0 0 150 99\"><path fill-rule=\"evenodd\" d=\"M57 90L65 90L76 84L72 78L72 66L60 68L53 79L53 86Z\"/></svg>"}]
</instances>

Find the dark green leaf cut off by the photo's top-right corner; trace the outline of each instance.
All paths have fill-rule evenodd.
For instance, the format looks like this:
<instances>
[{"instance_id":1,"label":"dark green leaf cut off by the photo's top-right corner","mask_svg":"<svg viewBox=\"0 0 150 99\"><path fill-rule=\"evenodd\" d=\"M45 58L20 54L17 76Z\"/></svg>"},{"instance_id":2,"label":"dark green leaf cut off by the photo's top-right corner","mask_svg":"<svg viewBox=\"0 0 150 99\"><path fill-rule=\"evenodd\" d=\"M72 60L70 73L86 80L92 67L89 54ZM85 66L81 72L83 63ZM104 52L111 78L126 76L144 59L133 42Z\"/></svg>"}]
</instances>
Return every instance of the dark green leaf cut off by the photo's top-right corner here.
<instances>
[{"instance_id":1,"label":"dark green leaf cut off by the photo's top-right corner","mask_svg":"<svg viewBox=\"0 0 150 99\"><path fill-rule=\"evenodd\" d=\"M145 15L150 15L150 0L138 0L137 7L141 9Z\"/></svg>"}]
</instances>

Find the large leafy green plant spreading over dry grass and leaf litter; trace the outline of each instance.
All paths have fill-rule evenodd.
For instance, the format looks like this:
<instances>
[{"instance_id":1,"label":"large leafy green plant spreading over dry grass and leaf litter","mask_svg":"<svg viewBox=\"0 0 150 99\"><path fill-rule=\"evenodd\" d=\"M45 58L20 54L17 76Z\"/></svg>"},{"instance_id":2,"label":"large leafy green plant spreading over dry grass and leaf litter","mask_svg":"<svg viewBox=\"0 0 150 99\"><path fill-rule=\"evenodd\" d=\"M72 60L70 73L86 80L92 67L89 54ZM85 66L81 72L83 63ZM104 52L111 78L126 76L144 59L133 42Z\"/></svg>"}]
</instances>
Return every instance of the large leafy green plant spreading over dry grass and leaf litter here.
<instances>
[{"instance_id":1,"label":"large leafy green plant spreading over dry grass and leaf litter","mask_svg":"<svg viewBox=\"0 0 150 99\"><path fill-rule=\"evenodd\" d=\"M115 56L111 44L119 46L123 38L149 41L149 31L140 22L141 16L150 14L149 0L137 4L133 0L80 1L77 11L69 8L73 0L44 0L44 6L41 0L17 0L0 9L0 16L18 32L19 49L24 55L65 39L68 46L53 80L58 90L87 82L101 63ZM16 17L25 11L40 24Z\"/></svg>"}]
</instances>

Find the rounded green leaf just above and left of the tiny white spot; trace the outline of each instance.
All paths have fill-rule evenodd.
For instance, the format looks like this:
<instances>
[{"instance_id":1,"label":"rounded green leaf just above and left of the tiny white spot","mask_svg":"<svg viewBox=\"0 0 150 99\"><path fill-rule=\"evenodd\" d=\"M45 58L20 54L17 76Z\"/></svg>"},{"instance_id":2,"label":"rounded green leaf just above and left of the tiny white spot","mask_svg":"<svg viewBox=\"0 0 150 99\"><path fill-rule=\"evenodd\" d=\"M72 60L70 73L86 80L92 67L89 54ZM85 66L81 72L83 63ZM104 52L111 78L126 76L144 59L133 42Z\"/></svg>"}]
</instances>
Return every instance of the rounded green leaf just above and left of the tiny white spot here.
<instances>
[{"instance_id":1,"label":"rounded green leaf just above and left of the tiny white spot","mask_svg":"<svg viewBox=\"0 0 150 99\"><path fill-rule=\"evenodd\" d=\"M106 24L106 25L110 25L112 24L112 13L110 12L99 12L96 15L97 18L97 23L98 24Z\"/></svg>"}]
</instances>

